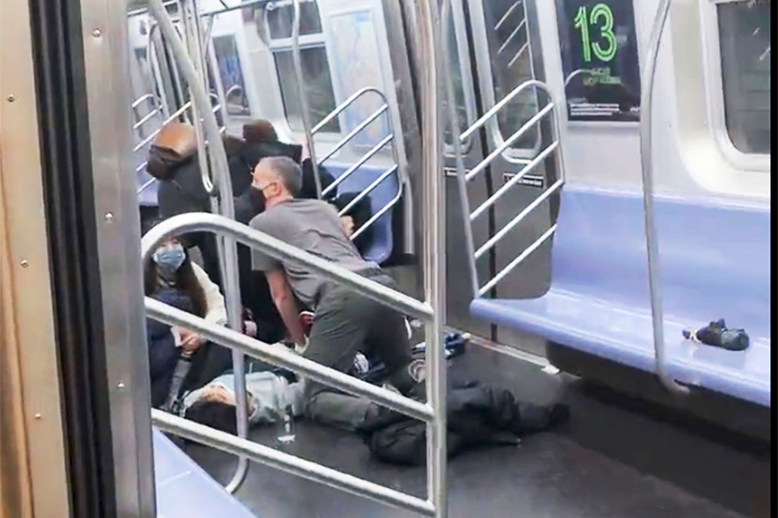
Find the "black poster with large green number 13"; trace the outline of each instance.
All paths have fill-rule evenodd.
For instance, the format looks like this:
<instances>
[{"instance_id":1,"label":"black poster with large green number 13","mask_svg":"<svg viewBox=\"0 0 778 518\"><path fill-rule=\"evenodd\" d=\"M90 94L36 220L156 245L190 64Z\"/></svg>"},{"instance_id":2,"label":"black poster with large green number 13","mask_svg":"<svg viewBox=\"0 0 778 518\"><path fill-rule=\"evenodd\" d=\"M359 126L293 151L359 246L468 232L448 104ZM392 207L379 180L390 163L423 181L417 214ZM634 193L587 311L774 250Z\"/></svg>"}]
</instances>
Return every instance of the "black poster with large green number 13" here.
<instances>
[{"instance_id":1,"label":"black poster with large green number 13","mask_svg":"<svg viewBox=\"0 0 778 518\"><path fill-rule=\"evenodd\" d=\"M555 0L568 120L640 120L633 0Z\"/></svg>"}]
</instances>

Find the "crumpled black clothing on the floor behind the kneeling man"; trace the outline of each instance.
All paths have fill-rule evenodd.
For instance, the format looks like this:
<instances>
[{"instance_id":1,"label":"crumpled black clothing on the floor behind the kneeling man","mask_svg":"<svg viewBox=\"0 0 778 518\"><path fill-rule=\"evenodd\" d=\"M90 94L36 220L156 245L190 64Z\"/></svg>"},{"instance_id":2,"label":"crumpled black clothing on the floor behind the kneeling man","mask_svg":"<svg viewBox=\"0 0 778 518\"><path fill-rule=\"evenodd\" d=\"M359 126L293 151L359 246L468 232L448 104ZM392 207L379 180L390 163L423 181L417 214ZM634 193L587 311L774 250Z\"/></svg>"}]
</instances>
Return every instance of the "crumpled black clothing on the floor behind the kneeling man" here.
<instances>
[{"instance_id":1,"label":"crumpled black clothing on the floor behind the kneeling man","mask_svg":"<svg viewBox=\"0 0 778 518\"><path fill-rule=\"evenodd\" d=\"M424 401L419 385L412 398ZM518 401L510 391L477 382L450 384L447 389L447 455L486 445L517 444L524 433L549 429L566 419L566 407ZM392 464L426 463L426 424L374 405L359 427L370 452Z\"/></svg>"}]
</instances>

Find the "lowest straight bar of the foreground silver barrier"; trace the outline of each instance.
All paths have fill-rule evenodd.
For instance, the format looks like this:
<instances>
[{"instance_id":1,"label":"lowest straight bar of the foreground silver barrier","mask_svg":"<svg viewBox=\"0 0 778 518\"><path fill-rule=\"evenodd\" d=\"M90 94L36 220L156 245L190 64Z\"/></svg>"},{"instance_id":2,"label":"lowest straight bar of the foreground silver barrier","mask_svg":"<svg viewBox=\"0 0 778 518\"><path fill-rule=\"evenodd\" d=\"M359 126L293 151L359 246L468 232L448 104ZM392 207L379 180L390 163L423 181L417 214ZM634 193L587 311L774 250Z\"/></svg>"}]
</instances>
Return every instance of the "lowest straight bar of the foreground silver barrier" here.
<instances>
[{"instance_id":1,"label":"lowest straight bar of the foreground silver barrier","mask_svg":"<svg viewBox=\"0 0 778 518\"><path fill-rule=\"evenodd\" d=\"M240 439L240 437L230 435L230 433L170 415L161 410L152 409L151 415L154 426L163 432L173 433L231 454L248 457L252 461L266 464L271 468L364 496L377 502L415 511L424 516L435 516L435 506L427 500L406 495L396 489L327 468L321 464L254 443L251 440Z\"/></svg>"}]
</instances>

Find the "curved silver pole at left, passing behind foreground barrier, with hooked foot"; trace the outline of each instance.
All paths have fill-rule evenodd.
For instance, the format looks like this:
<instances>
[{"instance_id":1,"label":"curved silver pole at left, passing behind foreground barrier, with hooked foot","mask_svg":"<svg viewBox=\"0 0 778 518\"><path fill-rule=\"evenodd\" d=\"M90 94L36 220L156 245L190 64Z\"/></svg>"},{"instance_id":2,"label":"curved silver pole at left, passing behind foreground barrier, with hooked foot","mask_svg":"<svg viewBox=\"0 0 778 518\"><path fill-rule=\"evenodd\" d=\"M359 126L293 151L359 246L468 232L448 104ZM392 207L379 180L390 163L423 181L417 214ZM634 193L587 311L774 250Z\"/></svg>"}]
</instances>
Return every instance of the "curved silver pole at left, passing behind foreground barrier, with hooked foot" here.
<instances>
[{"instance_id":1,"label":"curved silver pole at left, passing behind foreground barrier, with hooked foot","mask_svg":"<svg viewBox=\"0 0 778 518\"><path fill-rule=\"evenodd\" d=\"M187 54L184 43L180 40L170 16L167 15L162 0L149 0L149 12L159 24L159 30L162 31L173 50L173 56L187 79L191 88L192 104L199 107L202 113L205 134L209 140L209 158L212 163L212 169L216 172L216 179L219 183L219 193L221 193L221 210L226 217L234 219L235 208L233 200L232 182L230 181L230 169L227 163L227 155L224 150L219 125L216 123L216 116L210 110L209 96L205 93L202 82L198 78L195 67ZM199 121L196 121L199 122ZM237 246L232 236L226 236L223 240L223 282L225 287L225 299L227 306L227 318L230 327L240 332L241 329L241 304L240 304L240 283L238 279ZM246 400L246 380L244 377L244 358L243 354L233 351L233 370L235 371L235 398L237 412L237 433L240 437L248 436L248 407ZM238 458L238 466L232 480L226 486L227 491L235 492L240 484L246 478L248 471L247 457Z\"/></svg>"}]
</instances>

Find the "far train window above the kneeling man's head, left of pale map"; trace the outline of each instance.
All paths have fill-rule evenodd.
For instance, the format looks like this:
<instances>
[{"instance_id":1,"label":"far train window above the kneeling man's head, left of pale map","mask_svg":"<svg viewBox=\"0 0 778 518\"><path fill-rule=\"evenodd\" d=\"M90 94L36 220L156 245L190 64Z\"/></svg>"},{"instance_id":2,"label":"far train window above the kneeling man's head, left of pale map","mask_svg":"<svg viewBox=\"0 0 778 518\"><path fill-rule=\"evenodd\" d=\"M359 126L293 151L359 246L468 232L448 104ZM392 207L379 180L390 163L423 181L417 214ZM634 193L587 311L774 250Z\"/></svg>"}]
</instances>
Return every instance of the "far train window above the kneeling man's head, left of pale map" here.
<instances>
[{"instance_id":1,"label":"far train window above the kneeling man's head, left of pale map","mask_svg":"<svg viewBox=\"0 0 778 518\"><path fill-rule=\"evenodd\" d=\"M292 2L271 2L265 8L269 47L275 60L275 71L279 76L281 98L289 127L295 131L303 130L300 116L300 99L294 73L292 58ZM310 105L310 123L314 126L324 116L335 110L335 92L332 88L330 65L327 50L324 48L324 33L316 2L300 2L300 61L303 68L308 104ZM340 131L338 118L327 123L324 131Z\"/></svg>"}]
</instances>

